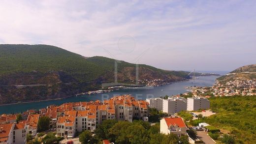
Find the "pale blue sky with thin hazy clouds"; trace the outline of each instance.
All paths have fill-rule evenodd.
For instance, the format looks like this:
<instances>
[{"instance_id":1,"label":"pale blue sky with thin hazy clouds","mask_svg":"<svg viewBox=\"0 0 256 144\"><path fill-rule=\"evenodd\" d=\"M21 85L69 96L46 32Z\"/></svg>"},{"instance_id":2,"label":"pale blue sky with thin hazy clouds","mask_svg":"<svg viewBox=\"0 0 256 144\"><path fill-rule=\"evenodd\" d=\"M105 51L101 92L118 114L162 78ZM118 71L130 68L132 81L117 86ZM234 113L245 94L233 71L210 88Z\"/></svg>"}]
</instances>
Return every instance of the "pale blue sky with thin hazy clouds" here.
<instances>
[{"instance_id":1,"label":"pale blue sky with thin hazy clouds","mask_svg":"<svg viewBox=\"0 0 256 144\"><path fill-rule=\"evenodd\" d=\"M231 71L256 63L256 0L0 0L0 43Z\"/></svg>"}]
</instances>

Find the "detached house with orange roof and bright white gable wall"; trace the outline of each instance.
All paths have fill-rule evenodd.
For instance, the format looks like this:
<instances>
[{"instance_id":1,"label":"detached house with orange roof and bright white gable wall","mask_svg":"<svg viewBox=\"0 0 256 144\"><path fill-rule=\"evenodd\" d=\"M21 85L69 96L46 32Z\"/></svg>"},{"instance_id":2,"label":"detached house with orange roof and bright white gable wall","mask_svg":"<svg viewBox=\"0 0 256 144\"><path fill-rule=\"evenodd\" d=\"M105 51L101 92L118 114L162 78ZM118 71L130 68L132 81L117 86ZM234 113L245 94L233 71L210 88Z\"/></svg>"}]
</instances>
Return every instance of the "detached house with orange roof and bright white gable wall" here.
<instances>
[{"instance_id":1,"label":"detached house with orange roof and bright white gable wall","mask_svg":"<svg viewBox=\"0 0 256 144\"><path fill-rule=\"evenodd\" d=\"M186 135L187 126L181 117L165 117L160 120L160 133Z\"/></svg>"}]
</instances>

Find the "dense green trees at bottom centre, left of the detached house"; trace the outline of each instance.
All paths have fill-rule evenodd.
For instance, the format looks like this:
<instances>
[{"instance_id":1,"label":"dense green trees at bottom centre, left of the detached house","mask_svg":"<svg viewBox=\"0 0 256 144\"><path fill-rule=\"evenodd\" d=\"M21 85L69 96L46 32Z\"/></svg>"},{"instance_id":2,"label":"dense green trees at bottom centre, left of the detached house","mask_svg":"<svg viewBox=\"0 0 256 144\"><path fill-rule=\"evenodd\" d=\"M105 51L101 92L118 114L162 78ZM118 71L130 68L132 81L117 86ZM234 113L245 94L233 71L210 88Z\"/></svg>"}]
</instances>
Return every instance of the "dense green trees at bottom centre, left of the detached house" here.
<instances>
[{"instance_id":1,"label":"dense green trees at bottom centre, left of the detached house","mask_svg":"<svg viewBox=\"0 0 256 144\"><path fill-rule=\"evenodd\" d=\"M79 135L82 144L100 144L102 140L109 140L115 144L189 144L188 137L178 138L175 134L160 134L160 124L150 125L149 122L104 120L96 128L96 135L84 131Z\"/></svg>"}]
</instances>

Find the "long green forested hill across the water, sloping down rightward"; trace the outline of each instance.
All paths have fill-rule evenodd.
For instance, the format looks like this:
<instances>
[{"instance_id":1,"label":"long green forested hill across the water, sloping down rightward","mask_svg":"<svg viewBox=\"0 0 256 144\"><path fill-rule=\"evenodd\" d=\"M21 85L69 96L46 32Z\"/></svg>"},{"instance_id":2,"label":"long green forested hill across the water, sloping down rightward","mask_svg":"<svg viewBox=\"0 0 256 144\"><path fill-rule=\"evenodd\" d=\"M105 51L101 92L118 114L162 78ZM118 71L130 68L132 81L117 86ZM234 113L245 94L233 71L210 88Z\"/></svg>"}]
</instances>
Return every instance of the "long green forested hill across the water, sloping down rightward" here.
<instances>
[{"instance_id":1,"label":"long green forested hill across the water, sloping down rightward","mask_svg":"<svg viewBox=\"0 0 256 144\"><path fill-rule=\"evenodd\" d=\"M0 104L72 96L114 82L114 59L86 58L49 45L0 45ZM118 63L118 82L135 80L135 64ZM168 82L188 72L139 65L139 79Z\"/></svg>"}]
</instances>

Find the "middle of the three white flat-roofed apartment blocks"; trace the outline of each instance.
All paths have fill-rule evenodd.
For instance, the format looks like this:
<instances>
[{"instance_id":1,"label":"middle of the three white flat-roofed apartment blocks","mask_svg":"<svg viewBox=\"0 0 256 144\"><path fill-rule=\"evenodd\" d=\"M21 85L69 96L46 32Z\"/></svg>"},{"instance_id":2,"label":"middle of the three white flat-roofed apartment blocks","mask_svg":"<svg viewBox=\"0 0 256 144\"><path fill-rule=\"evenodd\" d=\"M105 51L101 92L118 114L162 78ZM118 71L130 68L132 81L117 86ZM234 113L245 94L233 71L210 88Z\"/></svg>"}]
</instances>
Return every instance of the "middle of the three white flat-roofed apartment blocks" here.
<instances>
[{"instance_id":1,"label":"middle of the three white flat-roofed apartment blocks","mask_svg":"<svg viewBox=\"0 0 256 144\"><path fill-rule=\"evenodd\" d=\"M171 97L162 100L162 112L175 114L187 110L187 100L182 97Z\"/></svg>"}]
</instances>

